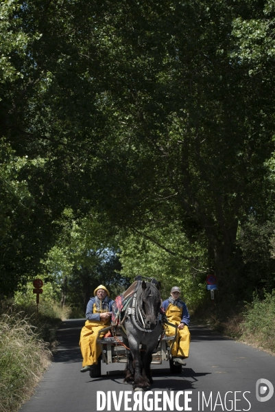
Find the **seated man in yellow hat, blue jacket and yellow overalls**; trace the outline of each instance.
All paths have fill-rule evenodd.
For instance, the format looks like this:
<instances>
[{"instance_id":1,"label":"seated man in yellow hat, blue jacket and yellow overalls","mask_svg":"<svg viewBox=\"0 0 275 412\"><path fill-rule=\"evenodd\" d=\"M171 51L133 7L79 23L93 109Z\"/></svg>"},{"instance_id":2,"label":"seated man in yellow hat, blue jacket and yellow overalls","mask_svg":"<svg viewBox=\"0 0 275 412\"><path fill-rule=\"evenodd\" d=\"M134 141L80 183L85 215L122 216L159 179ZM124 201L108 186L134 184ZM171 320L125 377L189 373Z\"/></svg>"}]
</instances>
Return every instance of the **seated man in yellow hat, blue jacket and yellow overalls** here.
<instances>
[{"instance_id":1,"label":"seated man in yellow hat, blue jacket and yellow overalls","mask_svg":"<svg viewBox=\"0 0 275 412\"><path fill-rule=\"evenodd\" d=\"M95 297L88 301L86 310L86 322L80 334L80 349L83 357L81 372L90 370L97 364L101 350L96 342L99 330L110 325L112 315L112 303L110 293L105 286L99 285L94 290Z\"/></svg>"}]
</instances>

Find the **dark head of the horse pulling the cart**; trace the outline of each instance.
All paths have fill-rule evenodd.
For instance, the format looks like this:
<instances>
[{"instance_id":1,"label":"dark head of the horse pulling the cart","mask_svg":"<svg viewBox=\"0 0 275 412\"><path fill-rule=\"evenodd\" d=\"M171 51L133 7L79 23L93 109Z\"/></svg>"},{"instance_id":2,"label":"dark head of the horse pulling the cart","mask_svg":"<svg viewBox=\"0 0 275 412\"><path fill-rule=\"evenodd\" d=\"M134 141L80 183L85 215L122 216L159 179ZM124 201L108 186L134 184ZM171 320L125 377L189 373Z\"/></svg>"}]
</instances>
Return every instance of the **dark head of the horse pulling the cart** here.
<instances>
[{"instance_id":1,"label":"dark head of the horse pulling the cart","mask_svg":"<svg viewBox=\"0 0 275 412\"><path fill-rule=\"evenodd\" d=\"M141 308L145 315L145 328L154 329L158 323L160 310L160 291L159 284L142 282Z\"/></svg>"}]
</instances>

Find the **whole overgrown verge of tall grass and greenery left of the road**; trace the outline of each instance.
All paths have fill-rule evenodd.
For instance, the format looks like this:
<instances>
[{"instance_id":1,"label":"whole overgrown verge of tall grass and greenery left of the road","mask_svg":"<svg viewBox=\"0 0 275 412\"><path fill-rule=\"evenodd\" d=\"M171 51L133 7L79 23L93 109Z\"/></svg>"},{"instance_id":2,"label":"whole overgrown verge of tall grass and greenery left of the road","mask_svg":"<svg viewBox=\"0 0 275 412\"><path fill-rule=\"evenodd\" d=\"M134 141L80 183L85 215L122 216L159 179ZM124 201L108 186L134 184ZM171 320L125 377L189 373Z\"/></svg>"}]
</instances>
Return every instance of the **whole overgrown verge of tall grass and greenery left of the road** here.
<instances>
[{"instance_id":1,"label":"whole overgrown verge of tall grass and greenery left of the road","mask_svg":"<svg viewBox=\"0 0 275 412\"><path fill-rule=\"evenodd\" d=\"M51 359L56 329L70 308L0 301L0 412L16 412L32 395Z\"/></svg>"}]
</instances>

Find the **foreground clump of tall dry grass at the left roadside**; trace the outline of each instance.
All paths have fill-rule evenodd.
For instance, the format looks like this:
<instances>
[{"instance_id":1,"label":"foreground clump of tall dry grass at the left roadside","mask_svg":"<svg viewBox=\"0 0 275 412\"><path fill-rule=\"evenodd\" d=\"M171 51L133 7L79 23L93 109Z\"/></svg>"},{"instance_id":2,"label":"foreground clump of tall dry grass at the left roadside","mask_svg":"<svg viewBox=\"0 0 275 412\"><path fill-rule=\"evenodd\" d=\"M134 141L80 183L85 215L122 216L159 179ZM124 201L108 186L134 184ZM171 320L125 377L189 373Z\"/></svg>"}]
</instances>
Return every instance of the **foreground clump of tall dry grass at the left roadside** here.
<instances>
[{"instance_id":1,"label":"foreground clump of tall dry grass at the left roadside","mask_svg":"<svg viewBox=\"0 0 275 412\"><path fill-rule=\"evenodd\" d=\"M0 411L17 411L49 365L51 352L23 314L0 316Z\"/></svg>"}]
</instances>

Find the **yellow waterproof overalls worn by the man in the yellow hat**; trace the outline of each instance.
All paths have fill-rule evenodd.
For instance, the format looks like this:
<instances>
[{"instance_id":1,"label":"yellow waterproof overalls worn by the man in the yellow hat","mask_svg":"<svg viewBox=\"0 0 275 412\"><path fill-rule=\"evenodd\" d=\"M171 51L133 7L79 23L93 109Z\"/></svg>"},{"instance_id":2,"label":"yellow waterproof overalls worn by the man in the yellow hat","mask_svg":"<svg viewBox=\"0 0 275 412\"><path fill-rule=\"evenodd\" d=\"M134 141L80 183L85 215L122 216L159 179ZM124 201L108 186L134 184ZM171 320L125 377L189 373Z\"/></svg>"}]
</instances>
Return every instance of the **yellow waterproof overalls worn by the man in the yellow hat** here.
<instances>
[{"instance_id":1,"label":"yellow waterproof overalls worn by the man in the yellow hat","mask_svg":"<svg viewBox=\"0 0 275 412\"><path fill-rule=\"evenodd\" d=\"M103 313L108 310L97 310L93 305L93 313ZM80 349L83 357L82 366L97 364L97 358L101 354L100 346L96 342L99 330L110 325L110 319L106 321L86 321L80 333ZM101 337L104 334L100 335Z\"/></svg>"}]
</instances>

